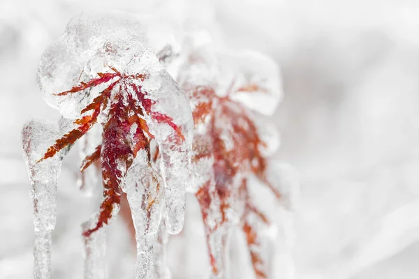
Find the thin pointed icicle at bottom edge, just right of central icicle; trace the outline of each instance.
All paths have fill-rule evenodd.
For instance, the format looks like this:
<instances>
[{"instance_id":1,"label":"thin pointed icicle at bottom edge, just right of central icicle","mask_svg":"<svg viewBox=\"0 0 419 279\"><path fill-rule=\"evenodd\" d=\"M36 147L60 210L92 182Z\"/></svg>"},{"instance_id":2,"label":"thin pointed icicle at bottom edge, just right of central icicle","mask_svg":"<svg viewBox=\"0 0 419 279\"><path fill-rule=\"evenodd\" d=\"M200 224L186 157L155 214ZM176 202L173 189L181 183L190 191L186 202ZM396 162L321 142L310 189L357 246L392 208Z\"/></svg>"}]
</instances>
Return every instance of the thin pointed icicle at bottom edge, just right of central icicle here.
<instances>
[{"instance_id":1,"label":"thin pointed icicle at bottom edge, just right of central icicle","mask_svg":"<svg viewBox=\"0 0 419 279\"><path fill-rule=\"evenodd\" d=\"M164 219L164 218L162 218ZM169 234L164 220L161 220L159 232L154 243L154 279L170 279L170 270L166 259Z\"/></svg>"}]
</instances>

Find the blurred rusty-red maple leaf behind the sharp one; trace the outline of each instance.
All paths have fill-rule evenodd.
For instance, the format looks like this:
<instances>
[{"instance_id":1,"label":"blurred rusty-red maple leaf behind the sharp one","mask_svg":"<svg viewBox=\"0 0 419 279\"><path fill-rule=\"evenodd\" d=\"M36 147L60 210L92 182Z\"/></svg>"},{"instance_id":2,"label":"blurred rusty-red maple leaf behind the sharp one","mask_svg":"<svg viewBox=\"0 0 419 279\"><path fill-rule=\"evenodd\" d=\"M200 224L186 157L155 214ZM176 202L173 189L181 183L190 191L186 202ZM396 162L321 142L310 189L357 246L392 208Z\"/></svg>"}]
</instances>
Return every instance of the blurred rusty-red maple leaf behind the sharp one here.
<instances>
[{"instance_id":1,"label":"blurred rusty-red maple leaf behind the sharp one","mask_svg":"<svg viewBox=\"0 0 419 279\"><path fill-rule=\"evenodd\" d=\"M209 181L203 184L196 193L196 198L200 204L203 215L205 232L207 234L207 246L210 254L210 264L212 273L215 275L220 271L222 259L217 259L211 246L210 239L212 234L216 233L216 229L225 223L229 223L228 211L234 208L233 204L244 202L244 213L241 218L242 230L247 236L247 247L251 256L253 270L257 278L267 278L264 269L264 262L259 255L258 231L249 223L250 215L256 216L260 222L268 224L267 217L258 211L256 206L251 204L249 193L247 190L247 181L244 179L241 186L235 186L235 177L242 173L245 176L255 174L260 181L267 185L274 195L279 198L280 193L266 178L266 159L260 153L260 147L265 143L260 140L258 130L251 114L240 105L230 99L230 96L218 97L213 89L207 87L193 88L186 86L186 92L194 100L193 120L196 125L204 122L209 116L210 121L207 123L207 136L211 138L212 148L200 149L194 146L193 162L198 162L203 158L214 158L213 171L215 176L214 189L209 187ZM249 84L238 91L256 91L260 90L257 85ZM226 137L232 140L232 146L226 145ZM196 142L196 145L199 144ZM211 214L212 202L218 204L218 211L221 218L214 227L210 227L214 220Z\"/></svg>"}]
</instances>

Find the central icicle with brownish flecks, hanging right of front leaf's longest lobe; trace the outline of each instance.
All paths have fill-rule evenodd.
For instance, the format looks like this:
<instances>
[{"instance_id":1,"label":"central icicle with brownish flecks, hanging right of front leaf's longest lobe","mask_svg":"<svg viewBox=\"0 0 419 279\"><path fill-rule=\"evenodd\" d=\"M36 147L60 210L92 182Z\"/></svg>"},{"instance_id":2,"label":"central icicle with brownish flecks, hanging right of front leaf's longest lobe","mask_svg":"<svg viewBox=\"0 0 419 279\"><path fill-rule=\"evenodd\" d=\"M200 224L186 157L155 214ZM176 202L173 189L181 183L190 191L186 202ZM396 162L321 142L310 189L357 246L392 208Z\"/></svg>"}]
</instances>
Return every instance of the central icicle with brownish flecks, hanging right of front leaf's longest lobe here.
<instances>
[{"instance_id":1,"label":"central icicle with brownish flecks, hanging right of front leaf's longest lobe","mask_svg":"<svg viewBox=\"0 0 419 279\"><path fill-rule=\"evenodd\" d=\"M140 158L138 154L137 158ZM142 156L145 157L145 156ZM156 172L138 160L128 170L125 181L126 197L131 208L137 241L135 278L153 279L153 245L161 221L163 187Z\"/></svg>"}]
</instances>

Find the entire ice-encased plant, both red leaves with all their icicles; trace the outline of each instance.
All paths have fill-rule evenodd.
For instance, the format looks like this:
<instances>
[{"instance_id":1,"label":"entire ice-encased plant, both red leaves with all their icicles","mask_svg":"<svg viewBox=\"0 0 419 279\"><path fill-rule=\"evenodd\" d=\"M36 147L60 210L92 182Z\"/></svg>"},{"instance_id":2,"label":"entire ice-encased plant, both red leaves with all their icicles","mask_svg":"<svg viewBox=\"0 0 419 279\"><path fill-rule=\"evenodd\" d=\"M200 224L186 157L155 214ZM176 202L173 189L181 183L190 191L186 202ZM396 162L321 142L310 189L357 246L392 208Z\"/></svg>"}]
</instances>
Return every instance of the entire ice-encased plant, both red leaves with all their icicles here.
<instances>
[{"instance_id":1,"label":"entire ice-encased plant, both red leaves with all their icicles","mask_svg":"<svg viewBox=\"0 0 419 279\"><path fill-rule=\"evenodd\" d=\"M59 166L80 140L80 188L91 193L96 176L103 184L98 213L82 225L84 278L105 278L105 227L125 201L136 278L170 278L168 232L182 229L186 190L203 214L211 277L230 278L229 238L238 226L256 278L269 278L274 225L250 186L266 186L277 199L288 187L270 175L278 171L269 157L279 140L260 121L281 99L277 65L256 52L193 45L193 33L178 38L179 47L154 35L158 22L145 22L82 13L42 56L38 83L63 118L32 121L23 132L34 192L35 276L50 277Z\"/></svg>"}]
</instances>

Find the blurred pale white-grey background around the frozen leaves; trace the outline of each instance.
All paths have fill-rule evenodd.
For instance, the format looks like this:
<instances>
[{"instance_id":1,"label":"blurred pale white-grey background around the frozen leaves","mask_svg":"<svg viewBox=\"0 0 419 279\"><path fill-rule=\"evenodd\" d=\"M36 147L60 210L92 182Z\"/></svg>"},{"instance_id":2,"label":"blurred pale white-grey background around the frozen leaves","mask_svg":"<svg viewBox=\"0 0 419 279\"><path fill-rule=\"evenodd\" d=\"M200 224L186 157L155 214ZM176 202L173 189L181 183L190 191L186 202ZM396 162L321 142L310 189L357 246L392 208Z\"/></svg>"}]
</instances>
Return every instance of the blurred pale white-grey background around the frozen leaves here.
<instances>
[{"instance_id":1,"label":"blurred pale white-grey background around the frozen leaves","mask_svg":"<svg viewBox=\"0 0 419 279\"><path fill-rule=\"evenodd\" d=\"M20 130L31 118L59 117L38 90L38 61L73 15L94 8L199 17L229 47L277 61L284 100L272 116L281 132L276 158L300 179L287 217L293 268L277 278L419 278L419 2L407 0L0 0L0 278L32 276ZM78 159L69 156L53 278L82 278L80 224L97 204L75 187ZM183 236L170 240L172 275L205 278L206 256L186 249L205 250L200 212L188 202ZM122 220L108 238L108 278L124 278L132 259L118 256L130 246Z\"/></svg>"}]
</instances>

